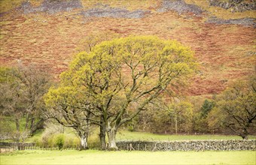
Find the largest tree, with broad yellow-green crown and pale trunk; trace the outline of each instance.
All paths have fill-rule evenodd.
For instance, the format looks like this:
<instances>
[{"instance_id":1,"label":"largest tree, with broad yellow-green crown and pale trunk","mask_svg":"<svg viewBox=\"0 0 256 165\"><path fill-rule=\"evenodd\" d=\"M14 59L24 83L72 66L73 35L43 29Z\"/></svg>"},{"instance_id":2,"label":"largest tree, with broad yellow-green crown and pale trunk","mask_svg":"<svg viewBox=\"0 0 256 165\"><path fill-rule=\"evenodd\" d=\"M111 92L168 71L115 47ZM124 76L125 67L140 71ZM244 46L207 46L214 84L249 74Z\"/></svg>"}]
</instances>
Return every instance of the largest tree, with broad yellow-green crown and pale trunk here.
<instances>
[{"instance_id":1,"label":"largest tree, with broad yellow-green crown and pale trunk","mask_svg":"<svg viewBox=\"0 0 256 165\"><path fill-rule=\"evenodd\" d=\"M69 86L81 92L90 104L87 110L100 115L96 122L106 131L109 148L117 149L118 128L166 89L187 80L196 68L193 52L181 43L158 37L124 37L78 54L69 70L61 74L59 88Z\"/></svg>"}]
</instances>

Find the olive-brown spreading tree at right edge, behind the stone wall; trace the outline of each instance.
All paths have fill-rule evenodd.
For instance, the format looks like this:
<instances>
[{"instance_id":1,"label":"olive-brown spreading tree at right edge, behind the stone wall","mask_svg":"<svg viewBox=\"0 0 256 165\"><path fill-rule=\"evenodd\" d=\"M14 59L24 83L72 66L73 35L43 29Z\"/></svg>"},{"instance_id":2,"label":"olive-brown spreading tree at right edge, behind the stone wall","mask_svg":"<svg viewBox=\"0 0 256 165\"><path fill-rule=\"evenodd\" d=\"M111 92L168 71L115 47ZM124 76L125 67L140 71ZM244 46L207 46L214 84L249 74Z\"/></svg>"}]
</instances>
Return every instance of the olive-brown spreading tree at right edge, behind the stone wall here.
<instances>
[{"instance_id":1,"label":"olive-brown spreading tree at right edge, behind the stone wall","mask_svg":"<svg viewBox=\"0 0 256 165\"><path fill-rule=\"evenodd\" d=\"M209 114L209 125L224 125L242 139L248 139L256 122L256 77L238 81L216 98L216 106ZM251 132L252 133L252 132Z\"/></svg>"}]
</instances>

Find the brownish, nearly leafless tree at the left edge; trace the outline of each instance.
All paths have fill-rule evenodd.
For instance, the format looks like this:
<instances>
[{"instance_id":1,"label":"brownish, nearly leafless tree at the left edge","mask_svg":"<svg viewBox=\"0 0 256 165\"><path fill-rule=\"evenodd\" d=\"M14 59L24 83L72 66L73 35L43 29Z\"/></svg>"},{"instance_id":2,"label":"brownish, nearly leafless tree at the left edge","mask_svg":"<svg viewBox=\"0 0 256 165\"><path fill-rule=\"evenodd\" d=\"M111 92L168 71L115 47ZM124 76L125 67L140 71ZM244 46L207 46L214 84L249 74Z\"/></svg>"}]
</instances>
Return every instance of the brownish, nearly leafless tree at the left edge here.
<instances>
[{"instance_id":1,"label":"brownish, nearly leafless tree at the left edge","mask_svg":"<svg viewBox=\"0 0 256 165\"><path fill-rule=\"evenodd\" d=\"M14 120L17 141L42 128L43 95L50 87L49 74L21 63L16 68L0 68L0 110L3 118ZM21 124L25 121L25 125Z\"/></svg>"}]
</instances>

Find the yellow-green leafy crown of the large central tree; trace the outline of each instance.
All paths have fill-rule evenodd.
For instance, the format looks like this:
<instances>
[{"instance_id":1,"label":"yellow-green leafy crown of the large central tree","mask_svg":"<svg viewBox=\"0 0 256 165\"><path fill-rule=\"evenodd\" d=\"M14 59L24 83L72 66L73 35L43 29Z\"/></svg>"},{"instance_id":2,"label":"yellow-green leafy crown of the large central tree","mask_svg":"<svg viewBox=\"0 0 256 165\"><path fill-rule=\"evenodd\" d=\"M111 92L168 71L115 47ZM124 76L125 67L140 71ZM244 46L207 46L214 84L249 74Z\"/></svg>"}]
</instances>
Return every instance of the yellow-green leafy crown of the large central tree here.
<instances>
[{"instance_id":1,"label":"yellow-green leafy crown of the large central tree","mask_svg":"<svg viewBox=\"0 0 256 165\"><path fill-rule=\"evenodd\" d=\"M61 74L59 88L79 89L102 104L118 93L139 101L171 82L186 80L197 70L193 55L175 40L154 36L107 40L76 55L69 70Z\"/></svg>"}]
</instances>

